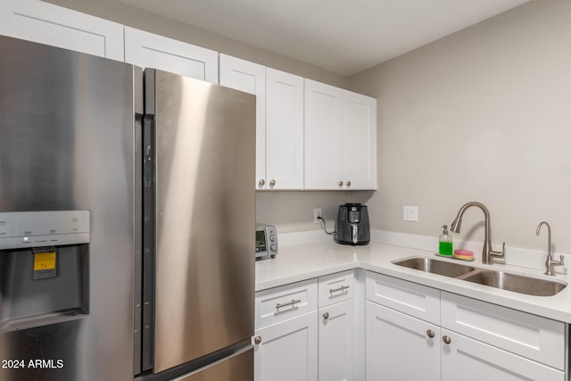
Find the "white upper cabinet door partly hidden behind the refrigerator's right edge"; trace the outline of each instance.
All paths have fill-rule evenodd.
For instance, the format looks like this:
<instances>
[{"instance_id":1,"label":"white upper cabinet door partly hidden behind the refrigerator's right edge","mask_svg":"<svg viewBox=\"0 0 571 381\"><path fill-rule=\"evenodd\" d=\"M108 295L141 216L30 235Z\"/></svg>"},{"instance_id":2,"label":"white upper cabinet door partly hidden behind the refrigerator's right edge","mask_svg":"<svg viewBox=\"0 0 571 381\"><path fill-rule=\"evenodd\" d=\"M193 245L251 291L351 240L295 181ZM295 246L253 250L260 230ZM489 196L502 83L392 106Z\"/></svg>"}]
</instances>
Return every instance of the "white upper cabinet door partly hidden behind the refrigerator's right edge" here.
<instances>
[{"instance_id":1,"label":"white upper cabinet door partly hidden behind the refrigerator's right edge","mask_svg":"<svg viewBox=\"0 0 571 381\"><path fill-rule=\"evenodd\" d=\"M256 95L256 189L266 188L266 67L220 54L220 85Z\"/></svg>"}]
</instances>

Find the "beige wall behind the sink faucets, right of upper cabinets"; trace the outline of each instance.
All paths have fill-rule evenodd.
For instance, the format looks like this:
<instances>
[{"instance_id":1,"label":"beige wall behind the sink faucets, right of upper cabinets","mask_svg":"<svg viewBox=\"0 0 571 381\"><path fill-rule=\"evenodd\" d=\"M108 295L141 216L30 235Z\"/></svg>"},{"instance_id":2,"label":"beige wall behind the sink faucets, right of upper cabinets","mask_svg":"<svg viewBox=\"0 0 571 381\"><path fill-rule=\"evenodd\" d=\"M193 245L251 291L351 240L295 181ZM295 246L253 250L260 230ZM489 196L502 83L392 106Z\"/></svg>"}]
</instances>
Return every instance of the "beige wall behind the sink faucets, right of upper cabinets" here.
<instances>
[{"instance_id":1,"label":"beige wall behind the sink faucets, right of upper cabinets","mask_svg":"<svg viewBox=\"0 0 571 381\"><path fill-rule=\"evenodd\" d=\"M496 249L545 250L545 219L571 253L570 21L571 1L535 0L350 79L378 99L373 228L438 236L479 201ZM468 210L459 236L481 241L483 219Z\"/></svg>"}]
</instances>

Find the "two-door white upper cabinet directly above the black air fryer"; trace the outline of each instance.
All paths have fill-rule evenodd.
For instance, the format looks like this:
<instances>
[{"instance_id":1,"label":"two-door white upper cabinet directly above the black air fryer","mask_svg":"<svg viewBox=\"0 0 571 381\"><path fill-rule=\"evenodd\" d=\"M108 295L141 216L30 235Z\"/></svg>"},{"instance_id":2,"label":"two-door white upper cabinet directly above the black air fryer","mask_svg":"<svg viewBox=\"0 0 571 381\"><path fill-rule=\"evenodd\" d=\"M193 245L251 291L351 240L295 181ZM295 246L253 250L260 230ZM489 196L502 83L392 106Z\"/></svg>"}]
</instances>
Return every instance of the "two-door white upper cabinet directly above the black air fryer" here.
<instances>
[{"instance_id":1,"label":"two-door white upper cabinet directly above the black air fryer","mask_svg":"<svg viewBox=\"0 0 571 381\"><path fill-rule=\"evenodd\" d=\"M305 188L377 189L377 100L305 79Z\"/></svg>"}]
</instances>

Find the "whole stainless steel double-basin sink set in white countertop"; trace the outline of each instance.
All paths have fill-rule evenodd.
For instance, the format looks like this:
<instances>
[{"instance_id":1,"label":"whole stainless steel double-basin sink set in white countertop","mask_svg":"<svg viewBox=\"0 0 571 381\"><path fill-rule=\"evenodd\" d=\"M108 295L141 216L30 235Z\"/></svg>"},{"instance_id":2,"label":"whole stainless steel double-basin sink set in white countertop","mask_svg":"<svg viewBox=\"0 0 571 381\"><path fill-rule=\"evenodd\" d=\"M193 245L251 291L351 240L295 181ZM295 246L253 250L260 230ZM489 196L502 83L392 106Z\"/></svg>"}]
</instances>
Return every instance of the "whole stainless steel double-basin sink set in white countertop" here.
<instances>
[{"instance_id":1,"label":"whole stainless steel double-basin sink set in white countertop","mask_svg":"<svg viewBox=\"0 0 571 381\"><path fill-rule=\"evenodd\" d=\"M525 275L493 269L479 269L465 264L438 261L426 257L406 258L393 261L393 264L526 295L552 296L567 286L567 283L555 280L526 277Z\"/></svg>"}]
</instances>

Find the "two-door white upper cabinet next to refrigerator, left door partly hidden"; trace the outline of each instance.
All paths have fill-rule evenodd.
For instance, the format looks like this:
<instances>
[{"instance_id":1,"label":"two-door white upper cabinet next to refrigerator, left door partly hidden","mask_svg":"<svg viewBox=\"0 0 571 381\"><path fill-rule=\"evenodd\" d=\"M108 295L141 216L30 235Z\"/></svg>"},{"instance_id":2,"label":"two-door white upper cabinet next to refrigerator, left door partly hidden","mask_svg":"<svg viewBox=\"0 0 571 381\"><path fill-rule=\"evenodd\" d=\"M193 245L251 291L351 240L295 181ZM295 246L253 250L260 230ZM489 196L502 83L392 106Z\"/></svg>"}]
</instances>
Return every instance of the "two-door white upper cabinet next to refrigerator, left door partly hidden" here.
<instances>
[{"instance_id":1,"label":"two-door white upper cabinet next to refrigerator, left door partly hidden","mask_svg":"<svg viewBox=\"0 0 571 381\"><path fill-rule=\"evenodd\" d=\"M256 95L258 190L303 189L303 79L220 54L220 85Z\"/></svg>"}]
</instances>

